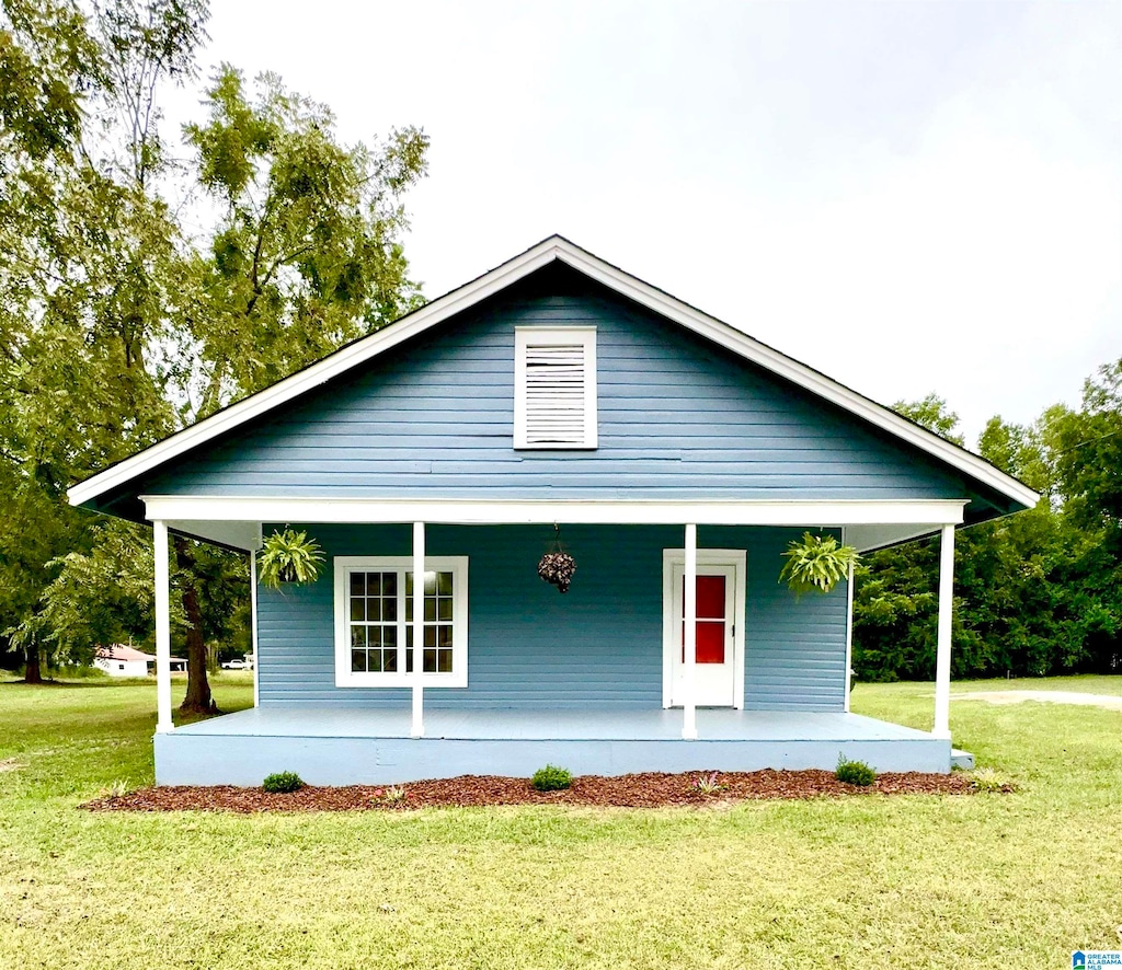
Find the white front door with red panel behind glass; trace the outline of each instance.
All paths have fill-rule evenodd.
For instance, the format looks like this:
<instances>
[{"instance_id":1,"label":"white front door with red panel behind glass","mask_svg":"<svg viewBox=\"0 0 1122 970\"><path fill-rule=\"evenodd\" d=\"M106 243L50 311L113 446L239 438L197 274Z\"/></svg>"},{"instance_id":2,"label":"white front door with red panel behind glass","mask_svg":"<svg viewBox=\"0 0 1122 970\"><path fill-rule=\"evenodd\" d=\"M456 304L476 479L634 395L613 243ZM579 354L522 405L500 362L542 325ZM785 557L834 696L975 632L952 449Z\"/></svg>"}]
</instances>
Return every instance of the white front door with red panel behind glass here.
<instances>
[{"instance_id":1,"label":"white front door with red panel behind glass","mask_svg":"<svg viewBox=\"0 0 1122 970\"><path fill-rule=\"evenodd\" d=\"M683 703L686 660L686 569L674 563L671 644L671 705ZM697 570L697 654L695 702L698 706L736 704L736 566L701 565Z\"/></svg>"}]
</instances>

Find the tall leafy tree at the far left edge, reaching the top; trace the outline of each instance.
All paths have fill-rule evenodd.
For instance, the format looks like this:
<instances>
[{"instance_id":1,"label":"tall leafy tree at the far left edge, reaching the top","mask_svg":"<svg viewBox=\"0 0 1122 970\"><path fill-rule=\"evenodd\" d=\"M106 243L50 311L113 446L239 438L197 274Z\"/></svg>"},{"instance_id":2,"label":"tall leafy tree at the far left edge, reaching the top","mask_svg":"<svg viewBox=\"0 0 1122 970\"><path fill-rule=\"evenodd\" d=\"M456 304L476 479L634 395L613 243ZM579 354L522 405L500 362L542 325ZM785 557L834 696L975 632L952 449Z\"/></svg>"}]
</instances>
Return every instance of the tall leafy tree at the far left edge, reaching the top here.
<instances>
[{"instance_id":1,"label":"tall leafy tree at the far left edge, reaching the top","mask_svg":"<svg viewBox=\"0 0 1122 970\"><path fill-rule=\"evenodd\" d=\"M0 628L38 676L44 593L101 533L66 487L175 424L151 353L172 336L178 233L156 94L190 76L200 0L7 0L0 19ZM57 634L57 631L54 631Z\"/></svg>"}]
</instances>

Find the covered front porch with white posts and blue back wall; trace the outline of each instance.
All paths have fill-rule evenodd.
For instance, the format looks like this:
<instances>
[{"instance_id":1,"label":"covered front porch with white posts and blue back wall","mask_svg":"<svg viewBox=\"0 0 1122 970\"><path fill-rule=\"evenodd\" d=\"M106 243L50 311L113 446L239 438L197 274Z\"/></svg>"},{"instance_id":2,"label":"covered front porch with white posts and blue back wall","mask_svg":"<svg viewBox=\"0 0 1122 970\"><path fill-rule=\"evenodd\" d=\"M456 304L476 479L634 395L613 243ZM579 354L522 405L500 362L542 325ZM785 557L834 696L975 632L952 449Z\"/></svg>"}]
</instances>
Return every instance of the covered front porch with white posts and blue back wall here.
<instances>
[{"instance_id":1,"label":"covered front porch with white posts and blue back wall","mask_svg":"<svg viewBox=\"0 0 1122 970\"><path fill-rule=\"evenodd\" d=\"M279 770L319 784L524 776L550 761L577 774L614 775L833 768L839 755L881 772L951 767L950 607L962 501L145 501L157 563L159 784L256 785ZM175 729L163 660L169 654L168 530L241 545L252 554L263 523L301 524L324 537L324 576L313 589L266 595L264 622L258 622L261 594L254 584L257 706ZM564 598L543 586L524 561L527 549L536 561L533 543L542 527L552 529L555 523L574 528L578 542L583 536L603 553L578 555L586 563L580 573L586 585ZM836 529L862 551L941 535L931 732L849 712L852 575L847 590L831 594L828 626L815 626L813 595L800 603L778 584L781 542L804 528ZM632 532L624 536L622 529ZM762 543L758 547L752 535L744 537L748 533ZM617 556L625 539L629 566L622 570ZM695 591L707 547L739 549L742 565L747 547L746 592L737 586L747 610L726 615L736 691L723 706L712 706L701 693L697 663L701 615ZM407 593L411 619L398 599L395 669L401 675L385 684L348 680L350 650L337 636L349 616L344 590L350 584L341 570L366 549L394 558L402 570L401 590L406 570L427 578L434 567L445 569L439 564L450 557L471 561L471 606L461 616L470 621L471 653L456 668L462 682L445 677L441 683L440 675L406 664L404 632L412 643L425 641L427 593L420 583ZM672 557L679 573L666 566ZM743 583L743 570L741 576ZM466 589L466 573L463 581ZM456 582L459 588L459 575ZM680 622L671 618L672 589L681 591L673 606ZM549 602L540 599L546 592ZM554 621L562 616L568 625L569 650L553 666L549 648L534 645L550 609ZM807 634L811 628L817 632ZM673 648L663 632L670 629L681 632ZM265 630L272 640L260 639ZM806 653L816 638L819 653ZM528 663L531 655L541 666ZM788 666L780 669L782 664Z\"/></svg>"}]
</instances>

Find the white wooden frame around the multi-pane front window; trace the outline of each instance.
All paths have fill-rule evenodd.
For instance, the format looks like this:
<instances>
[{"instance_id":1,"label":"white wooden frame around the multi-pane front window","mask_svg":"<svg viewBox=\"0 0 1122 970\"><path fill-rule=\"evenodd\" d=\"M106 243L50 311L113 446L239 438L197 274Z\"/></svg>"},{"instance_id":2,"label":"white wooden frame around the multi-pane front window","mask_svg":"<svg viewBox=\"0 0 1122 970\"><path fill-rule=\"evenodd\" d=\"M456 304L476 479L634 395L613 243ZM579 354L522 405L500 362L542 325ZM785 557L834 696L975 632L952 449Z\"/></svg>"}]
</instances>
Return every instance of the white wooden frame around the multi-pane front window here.
<instances>
[{"instance_id":1,"label":"white wooden frame around the multi-pane front window","mask_svg":"<svg viewBox=\"0 0 1122 970\"><path fill-rule=\"evenodd\" d=\"M451 673L421 673L425 687L466 687L468 685L468 557L425 556L425 570L452 573L452 671ZM335 556L335 686L337 687L407 687L413 674L401 669L393 673L355 672L351 669L350 647L350 574L352 572L399 572L398 584L398 643L405 652L405 573L413 571L413 556ZM412 621L410 621L412 623ZM423 652L424 646L421 645ZM414 654L414 664L423 654Z\"/></svg>"}]
</instances>

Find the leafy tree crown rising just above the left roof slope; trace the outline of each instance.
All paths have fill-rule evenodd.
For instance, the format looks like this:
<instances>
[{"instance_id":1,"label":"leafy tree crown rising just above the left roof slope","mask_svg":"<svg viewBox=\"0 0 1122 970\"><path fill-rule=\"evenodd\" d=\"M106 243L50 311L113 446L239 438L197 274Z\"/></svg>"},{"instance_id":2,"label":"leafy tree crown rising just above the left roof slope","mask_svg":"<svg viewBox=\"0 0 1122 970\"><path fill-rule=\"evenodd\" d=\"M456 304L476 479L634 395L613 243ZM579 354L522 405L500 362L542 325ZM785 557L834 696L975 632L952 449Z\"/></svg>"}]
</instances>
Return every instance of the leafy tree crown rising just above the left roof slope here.
<instances>
[{"instance_id":1,"label":"leafy tree crown rising just above the left roof slope","mask_svg":"<svg viewBox=\"0 0 1122 970\"><path fill-rule=\"evenodd\" d=\"M322 104L274 74L256 95L223 65L208 119L188 124L201 185L223 215L194 274L181 373L205 416L419 304L401 243L402 196L426 168L414 128L342 145Z\"/></svg>"}]
</instances>

